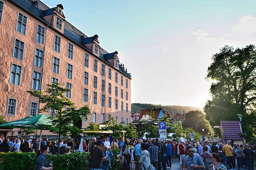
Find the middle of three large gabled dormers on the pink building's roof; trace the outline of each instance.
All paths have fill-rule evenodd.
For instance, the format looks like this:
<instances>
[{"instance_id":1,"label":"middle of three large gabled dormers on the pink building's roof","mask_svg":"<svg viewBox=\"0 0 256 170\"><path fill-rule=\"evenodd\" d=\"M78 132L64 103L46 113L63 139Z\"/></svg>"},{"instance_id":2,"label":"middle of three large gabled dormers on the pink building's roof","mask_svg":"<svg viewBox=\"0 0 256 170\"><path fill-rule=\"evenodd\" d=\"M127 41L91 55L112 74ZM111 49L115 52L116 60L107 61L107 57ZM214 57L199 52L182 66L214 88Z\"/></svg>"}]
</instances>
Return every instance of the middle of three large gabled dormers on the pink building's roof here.
<instances>
[{"instance_id":1,"label":"middle of three large gabled dormers on the pink building's roof","mask_svg":"<svg viewBox=\"0 0 256 170\"><path fill-rule=\"evenodd\" d=\"M81 36L83 45L91 50L92 53L100 56L100 42L98 41L98 35L94 35L92 37L84 38L84 36Z\"/></svg>"}]
</instances>

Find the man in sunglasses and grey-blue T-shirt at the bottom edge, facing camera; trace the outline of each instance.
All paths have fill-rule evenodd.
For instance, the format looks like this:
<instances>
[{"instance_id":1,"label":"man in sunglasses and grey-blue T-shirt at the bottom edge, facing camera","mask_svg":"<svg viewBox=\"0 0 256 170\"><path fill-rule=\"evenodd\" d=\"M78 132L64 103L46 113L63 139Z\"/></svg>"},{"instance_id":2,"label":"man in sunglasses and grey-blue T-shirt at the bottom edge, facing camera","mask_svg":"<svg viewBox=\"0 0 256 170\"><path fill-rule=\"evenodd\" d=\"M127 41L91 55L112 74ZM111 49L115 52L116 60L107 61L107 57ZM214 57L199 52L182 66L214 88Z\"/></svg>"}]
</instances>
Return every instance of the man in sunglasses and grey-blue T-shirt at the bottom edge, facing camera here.
<instances>
[{"instance_id":1,"label":"man in sunglasses and grey-blue T-shirt at the bottom edge, facing camera","mask_svg":"<svg viewBox=\"0 0 256 170\"><path fill-rule=\"evenodd\" d=\"M202 158L198 154L194 154L194 150L192 146L187 146L186 150L188 152L188 156L184 159L183 170L200 170L205 169L205 165L203 164Z\"/></svg>"}]
</instances>

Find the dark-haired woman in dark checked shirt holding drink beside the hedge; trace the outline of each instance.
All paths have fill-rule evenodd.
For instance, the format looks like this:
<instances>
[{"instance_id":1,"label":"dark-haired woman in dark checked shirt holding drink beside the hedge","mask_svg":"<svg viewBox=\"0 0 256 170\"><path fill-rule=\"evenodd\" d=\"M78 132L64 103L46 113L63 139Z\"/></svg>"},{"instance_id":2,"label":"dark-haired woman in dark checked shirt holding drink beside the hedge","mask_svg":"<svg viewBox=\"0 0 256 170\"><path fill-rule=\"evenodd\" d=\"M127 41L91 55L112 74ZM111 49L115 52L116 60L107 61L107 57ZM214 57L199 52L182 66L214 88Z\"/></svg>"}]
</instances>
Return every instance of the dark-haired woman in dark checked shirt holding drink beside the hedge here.
<instances>
[{"instance_id":1,"label":"dark-haired woman in dark checked shirt holding drink beside the hedge","mask_svg":"<svg viewBox=\"0 0 256 170\"><path fill-rule=\"evenodd\" d=\"M49 152L49 148L47 145L42 145L40 150L36 152L37 160L36 160L36 170L52 170L53 165L50 164L46 155Z\"/></svg>"}]
</instances>

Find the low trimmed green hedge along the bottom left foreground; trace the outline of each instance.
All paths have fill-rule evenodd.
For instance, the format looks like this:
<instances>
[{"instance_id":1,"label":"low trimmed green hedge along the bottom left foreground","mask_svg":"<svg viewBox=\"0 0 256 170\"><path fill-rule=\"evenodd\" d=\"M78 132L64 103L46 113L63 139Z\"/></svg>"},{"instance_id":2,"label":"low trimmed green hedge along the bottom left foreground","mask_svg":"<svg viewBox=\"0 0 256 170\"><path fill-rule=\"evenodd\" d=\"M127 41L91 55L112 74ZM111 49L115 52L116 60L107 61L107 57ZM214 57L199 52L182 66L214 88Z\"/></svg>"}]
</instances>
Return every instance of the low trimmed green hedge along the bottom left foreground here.
<instances>
[{"instance_id":1,"label":"low trimmed green hedge along the bottom left foreground","mask_svg":"<svg viewBox=\"0 0 256 170\"><path fill-rule=\"evenodd\" d=\"M113 157L110 157L110 170L120 169L120 163L117 155L120 149L112 150ZM47 155L49 161L53 162L54 170L89 170L89 153L71 153L60 155ZM35 170L36 153L9 152L0 153L0 169L17 169Z\"/></svg>"}]
</instances>

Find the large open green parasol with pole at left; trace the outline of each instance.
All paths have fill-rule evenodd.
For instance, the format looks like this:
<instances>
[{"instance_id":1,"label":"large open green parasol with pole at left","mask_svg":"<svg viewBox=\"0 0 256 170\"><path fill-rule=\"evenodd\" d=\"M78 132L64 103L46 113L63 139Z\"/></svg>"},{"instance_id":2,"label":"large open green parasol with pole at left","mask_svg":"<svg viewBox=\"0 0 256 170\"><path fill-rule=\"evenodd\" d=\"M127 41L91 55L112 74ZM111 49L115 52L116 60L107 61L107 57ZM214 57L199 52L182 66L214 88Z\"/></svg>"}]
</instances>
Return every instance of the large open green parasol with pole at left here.
<instances>
[{"instance_id":1,"label":"large open green parasol with pole at left","mask_svg":"<svg viewBox=\"0 0 256 170\"><path fill-rule=\"evenodd\" d=\"M50 120L47 119L49 116L40 114L36 116L27 117L20 120L14 120L11 122L0 124L2 128L23 128L23 129L38 129L40 130L40 142L42 139L42 130L54 130L51 126ZM40 149L40 145L39 145Z\"/></svg>"}]
</instances>

